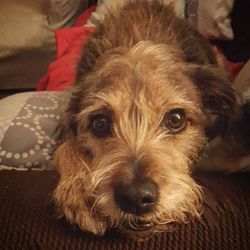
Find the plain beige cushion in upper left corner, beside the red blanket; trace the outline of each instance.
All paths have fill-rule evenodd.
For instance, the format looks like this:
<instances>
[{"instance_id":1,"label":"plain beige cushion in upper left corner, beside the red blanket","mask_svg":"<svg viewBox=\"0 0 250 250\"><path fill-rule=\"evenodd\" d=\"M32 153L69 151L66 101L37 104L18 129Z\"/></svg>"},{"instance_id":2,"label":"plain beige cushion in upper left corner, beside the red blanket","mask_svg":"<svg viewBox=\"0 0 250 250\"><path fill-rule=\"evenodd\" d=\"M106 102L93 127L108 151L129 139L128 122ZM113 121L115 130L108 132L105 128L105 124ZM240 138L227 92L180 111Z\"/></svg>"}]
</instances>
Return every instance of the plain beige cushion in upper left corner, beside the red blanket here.
<instances>
[{"instance_id":1,"label":"plain beige cushion in upper left corner, beside the red blanket","mask_svg":"<svg viewBox=\"0 0 250 250\"><path fill-rule=\"evenodd\" d=\"M87 4L1 0L0 89L34 88L55 58L54 29L71 26Z\"/></svg>"}]
</instances>

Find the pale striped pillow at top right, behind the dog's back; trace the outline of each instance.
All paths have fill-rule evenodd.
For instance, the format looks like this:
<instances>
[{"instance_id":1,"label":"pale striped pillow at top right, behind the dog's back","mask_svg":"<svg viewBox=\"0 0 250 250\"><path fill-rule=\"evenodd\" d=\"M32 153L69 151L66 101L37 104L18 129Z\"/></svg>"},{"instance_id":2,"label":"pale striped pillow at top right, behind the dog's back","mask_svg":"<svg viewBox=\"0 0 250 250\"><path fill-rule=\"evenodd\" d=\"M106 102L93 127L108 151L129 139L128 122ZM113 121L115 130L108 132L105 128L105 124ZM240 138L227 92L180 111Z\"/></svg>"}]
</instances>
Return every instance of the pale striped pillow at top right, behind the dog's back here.
<instances>
[{"instance_id":1,"label":"pale striped pillow at top right, behind the dog's back","mask_svg":"<svg viewBox=\"0 0 250 250\"><path fill-rule=\"evenodd\" d=\"M198 30L208 39L234 38L230 14L234 0L199 0Z\"/></svg>"}]
</instances>

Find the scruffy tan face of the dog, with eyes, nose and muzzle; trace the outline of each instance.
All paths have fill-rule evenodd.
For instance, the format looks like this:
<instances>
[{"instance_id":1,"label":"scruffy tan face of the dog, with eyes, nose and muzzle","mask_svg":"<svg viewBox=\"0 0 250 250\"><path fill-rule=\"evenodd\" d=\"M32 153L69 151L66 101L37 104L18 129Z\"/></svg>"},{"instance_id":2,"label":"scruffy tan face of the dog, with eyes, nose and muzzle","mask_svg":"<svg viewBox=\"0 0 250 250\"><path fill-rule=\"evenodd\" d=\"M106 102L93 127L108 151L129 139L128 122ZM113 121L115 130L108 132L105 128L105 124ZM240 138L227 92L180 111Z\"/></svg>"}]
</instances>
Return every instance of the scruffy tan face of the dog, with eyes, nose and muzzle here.
<instances>
[{"instance_id":1,"label":"scruffy tan face of the dog, with eyes, nose and muzzle","mask_svg":"<svg viewBox=\"0 0 250 250\"><path fill-rule=\"evenodd\" d=\"M205 91L195 83L201 75ZM61 213L85 231L117 227L136 238L199 216L191 167L206 143L209 110L233 99L223 84L214 88L218 77L150 42L99 57L76 92L76 136L56 153Z\"/></svg>"}]
</instances>

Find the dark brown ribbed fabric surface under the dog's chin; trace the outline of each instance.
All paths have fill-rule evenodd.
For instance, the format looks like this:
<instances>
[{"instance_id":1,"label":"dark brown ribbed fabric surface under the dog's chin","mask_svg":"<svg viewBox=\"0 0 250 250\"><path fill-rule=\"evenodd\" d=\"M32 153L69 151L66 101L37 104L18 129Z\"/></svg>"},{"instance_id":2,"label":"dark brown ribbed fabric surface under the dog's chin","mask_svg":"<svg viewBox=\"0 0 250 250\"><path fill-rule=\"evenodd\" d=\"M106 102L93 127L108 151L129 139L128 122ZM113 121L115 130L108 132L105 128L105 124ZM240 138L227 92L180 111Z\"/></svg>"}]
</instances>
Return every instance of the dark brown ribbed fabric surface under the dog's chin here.
<instances>
[{"instance_id":1,"label":"dark brown ribbed fabric surface under the dog's chin","mask_svg":"<svg viewBox=\"0 0 250 250\"><path fill-rule=\"evenodd\" d=\"M200 176L206 192L199 222L145 242L109 232L95 237L57 219L51 192L55 172L0 172L0 249L250 249L250 174Z\"/></svg>"}]
</instances>

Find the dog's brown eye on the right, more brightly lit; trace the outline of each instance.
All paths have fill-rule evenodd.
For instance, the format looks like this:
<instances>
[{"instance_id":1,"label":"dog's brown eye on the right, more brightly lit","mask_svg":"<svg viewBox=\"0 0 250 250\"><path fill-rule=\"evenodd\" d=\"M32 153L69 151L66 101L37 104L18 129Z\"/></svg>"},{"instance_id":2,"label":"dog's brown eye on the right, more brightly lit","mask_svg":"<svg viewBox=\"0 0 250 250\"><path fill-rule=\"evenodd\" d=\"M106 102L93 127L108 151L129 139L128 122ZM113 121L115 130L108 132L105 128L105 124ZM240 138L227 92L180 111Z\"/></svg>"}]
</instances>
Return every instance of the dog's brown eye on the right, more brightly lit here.
<instances>
[{"instance_id":1,"label":"dog's brown eye on the right, more brightly lit","mask_svg":"<svg viewBox=\"0 0 250 250\"><path fill-rule=\"evenodd\" d=\"M187 125L186 115L183 109L173 109L164 117L164 126L172 133L182 131Z\"/></svg>"}]
</instances>

